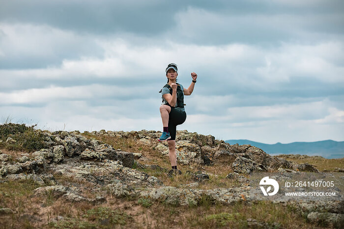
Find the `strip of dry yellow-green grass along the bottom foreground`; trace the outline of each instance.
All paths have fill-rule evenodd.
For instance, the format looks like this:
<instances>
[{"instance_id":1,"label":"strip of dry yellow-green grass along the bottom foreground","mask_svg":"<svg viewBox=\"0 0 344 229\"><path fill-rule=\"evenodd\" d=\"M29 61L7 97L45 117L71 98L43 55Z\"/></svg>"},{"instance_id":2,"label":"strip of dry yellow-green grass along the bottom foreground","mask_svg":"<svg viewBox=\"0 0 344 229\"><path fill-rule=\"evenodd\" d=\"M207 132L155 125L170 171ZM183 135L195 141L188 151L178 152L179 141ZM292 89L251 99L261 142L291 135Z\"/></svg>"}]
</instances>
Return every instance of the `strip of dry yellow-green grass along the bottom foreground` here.
<instances>
[{"instance_id":1,"label":"strip of dry yellow-green grass along the bottom foreground","mask_svg":"<svg viewBox=\"0 0 344 229\"><path fill-rule=\"evenodd\" d=\"M312 228L294 209L265 201L221 205L205 198L189 207L108 197L107 202L95 205L36 198L32 196L35 187L30 181L1 186L1 193L12 193L1 198L1 204L8 202L2 206L18 211L0 216L0 228L247 228L249 218L268 225L278 222L277 228Z\"/></svg>"}]
</instances>

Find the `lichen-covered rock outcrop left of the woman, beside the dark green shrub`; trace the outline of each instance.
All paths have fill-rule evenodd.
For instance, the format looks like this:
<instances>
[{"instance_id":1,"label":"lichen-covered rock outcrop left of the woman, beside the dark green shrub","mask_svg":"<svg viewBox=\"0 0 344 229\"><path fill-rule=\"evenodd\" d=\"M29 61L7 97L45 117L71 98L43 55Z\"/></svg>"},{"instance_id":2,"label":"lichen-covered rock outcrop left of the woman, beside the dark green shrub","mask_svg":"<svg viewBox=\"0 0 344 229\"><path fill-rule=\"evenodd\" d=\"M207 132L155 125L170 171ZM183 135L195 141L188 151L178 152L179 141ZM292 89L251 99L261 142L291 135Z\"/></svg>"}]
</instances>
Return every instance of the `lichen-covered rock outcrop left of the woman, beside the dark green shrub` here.
<instances>
[{"instance_id":1,"label":"lichen-covered rock outcrop left of the woman, beside the dark green shrub","mask_svg":"<svg viewBox=\"0 0 344 229\"><path fill-rule=\"evenodd\" d=\"M12 161L10 155L1 153L0 176L44 171L52 163L62 163L66 157L77 157L83 160L110 159L119 161L120 164L129 168L134 165L133 153L116 151L111 145L96 139L87 139L78 132L56 131L43 134L49 148L35 151L31 155L23 155L17 159L18 162Z\"/></svg>"}]
</instances>

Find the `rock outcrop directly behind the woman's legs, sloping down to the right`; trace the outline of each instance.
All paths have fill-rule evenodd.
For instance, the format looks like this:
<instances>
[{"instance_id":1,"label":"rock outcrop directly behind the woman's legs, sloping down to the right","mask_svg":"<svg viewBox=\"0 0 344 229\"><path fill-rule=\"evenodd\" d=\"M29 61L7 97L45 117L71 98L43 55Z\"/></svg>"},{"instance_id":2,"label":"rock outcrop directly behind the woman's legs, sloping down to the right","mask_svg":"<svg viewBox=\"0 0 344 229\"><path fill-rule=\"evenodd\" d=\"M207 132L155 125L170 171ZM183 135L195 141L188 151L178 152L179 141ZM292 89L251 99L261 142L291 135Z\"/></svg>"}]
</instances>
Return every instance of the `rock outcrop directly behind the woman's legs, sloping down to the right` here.
<instances>
[{"instance_id":1,"label":"rock outcrop directly behind the woman's legs, sloping down to the right","mask_svg":"<svg viewBox=\"0 0 344 229\"><path fill-rule=\"evenodd\" d=\"M93 131L91 134L96 136L112 136L117 138L134 138L144 144L150 144L159 150L162 155L168 156L168 143L156 141L161 136L160 131ZM224 141L215 140L211 135L204 136L197 133L190 133L186 130L177 131L176 152L178 163L191 165L229 165L233 163L237 172L246 171L277 171L279 168L291 169L295 171L313 171L313 167L298 165L286 159L273 157L265 153L258 147L252 145L230 145ZM246 160L246 159L249 160ZM241 162L245 161L244 164ZM239 162L239 163L238 163ZM244 165L243 167L241 165ZM233 168L234 169L234 168Z\"/></svg>"}]
</instances>

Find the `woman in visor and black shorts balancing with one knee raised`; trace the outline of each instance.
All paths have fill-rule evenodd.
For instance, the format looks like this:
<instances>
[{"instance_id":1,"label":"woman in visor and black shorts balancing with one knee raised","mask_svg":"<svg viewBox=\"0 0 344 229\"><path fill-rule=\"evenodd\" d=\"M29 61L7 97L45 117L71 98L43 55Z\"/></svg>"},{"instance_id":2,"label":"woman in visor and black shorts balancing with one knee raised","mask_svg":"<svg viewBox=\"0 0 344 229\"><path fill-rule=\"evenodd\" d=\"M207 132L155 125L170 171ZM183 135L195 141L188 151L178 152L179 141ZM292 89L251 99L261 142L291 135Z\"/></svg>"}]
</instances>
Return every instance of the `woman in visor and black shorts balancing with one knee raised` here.
<instances>
[{"instance_id":1,"label":"woman in visor and black shorts balancing with one knee raised","mask_svg":"<svg viewBox=\"0 0 344 229\"><path fill-rule=\"evenodd\" d=\"M163 104L160 106L160 114L163 122L163 133L159 142L168 141L169 156L172 170L169 175L181 174L177 170L177 154L175 151L176 126L184 123L186 113L184 108L184 95L191 95L194 90L197 74L191 73L192 83L188 88L176 83L178 68L175 63L170 63L166 68L167 84L161 89Z\"/></svg>"}]
</instances>

